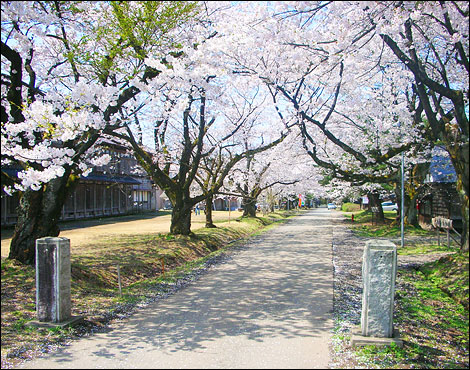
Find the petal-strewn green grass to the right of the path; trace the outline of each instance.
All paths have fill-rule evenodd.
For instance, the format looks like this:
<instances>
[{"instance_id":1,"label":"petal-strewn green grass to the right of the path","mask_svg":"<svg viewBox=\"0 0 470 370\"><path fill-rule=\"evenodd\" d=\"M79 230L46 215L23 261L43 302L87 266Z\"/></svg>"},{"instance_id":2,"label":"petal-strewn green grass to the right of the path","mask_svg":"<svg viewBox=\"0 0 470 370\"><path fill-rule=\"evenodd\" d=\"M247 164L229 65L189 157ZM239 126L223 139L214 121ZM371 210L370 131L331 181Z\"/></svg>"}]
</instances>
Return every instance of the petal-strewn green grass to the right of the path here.
<instances>
[{"instance_id":1,"label":"petal-strewn green grass to the right of the path","mask_svg":"<svg viewBox=\"0 0 470 370\"><path fill-rule=\"evenodd\" d=\"M349 209L346 217L351 218ZM353 230L366 237L399 237L395 212L386 212L385 225L372 225L371 215L353 212ZM405 227L405 235L434 236L434 232ZM469 366L469 254L458 247L432 243L405 244L398 255L451 252L416 268L398 269L394 326L403 348L366 346L356 350L358 361L378 368L457 369Z\"/></svg>"}]
</instances>

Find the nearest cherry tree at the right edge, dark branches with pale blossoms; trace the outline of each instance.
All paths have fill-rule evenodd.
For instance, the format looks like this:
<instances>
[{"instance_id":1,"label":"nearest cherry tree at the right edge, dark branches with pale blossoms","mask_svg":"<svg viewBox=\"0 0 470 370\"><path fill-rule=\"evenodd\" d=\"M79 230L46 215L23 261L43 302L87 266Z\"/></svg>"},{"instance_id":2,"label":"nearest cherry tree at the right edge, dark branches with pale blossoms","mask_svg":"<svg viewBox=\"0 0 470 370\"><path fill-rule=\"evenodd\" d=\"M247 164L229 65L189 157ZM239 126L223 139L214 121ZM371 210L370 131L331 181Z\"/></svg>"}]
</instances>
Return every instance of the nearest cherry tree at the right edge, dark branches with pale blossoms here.
<instances>
[{"instance_id":1,"label":"nearest cherry tree at the right edge, dark branches with pale blossoms","mask_svg":"<svg viewBox=\"0 0 470 370\"><path fill-rule=\"evenodd\" d=\"M469 234L469 8L467 2L331 2L324 4L335 57L361 67L393 71L390 81L406 94L416 140L443 144L457 173L464 232ZM319 3L289 4L285 16L310 22ZM331 53L330 53L331 55ZM390 57L390 55L393 57ZM357 68L359 70L359 68ZM361 73L360 71L358 71ZM403 76L407 81L403 80ZM394 94L388 94L395 107ZM408 131L402 119L402 129Z\"/></svg>"}]
</instances>

